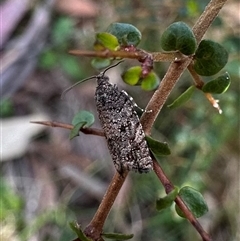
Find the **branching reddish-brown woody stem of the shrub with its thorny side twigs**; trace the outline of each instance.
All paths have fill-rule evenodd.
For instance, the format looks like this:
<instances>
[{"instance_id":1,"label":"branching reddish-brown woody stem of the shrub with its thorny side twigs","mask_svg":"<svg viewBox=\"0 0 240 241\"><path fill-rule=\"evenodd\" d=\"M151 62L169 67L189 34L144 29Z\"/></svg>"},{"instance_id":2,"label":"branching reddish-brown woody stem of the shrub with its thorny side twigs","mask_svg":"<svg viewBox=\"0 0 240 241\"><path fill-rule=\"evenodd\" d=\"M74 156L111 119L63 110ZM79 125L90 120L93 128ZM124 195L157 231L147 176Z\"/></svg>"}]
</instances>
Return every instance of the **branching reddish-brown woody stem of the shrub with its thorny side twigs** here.
<instances>
[{"instance_id":1,"label":"branching reddish-brown woody stem of the shrub with its thorny side twigs","mask_svg":"<svg viewBox=\"0 0 240 241\"><path fill-rule=\"evenodd\" d=\"M223 7L223 5L227 2L227 0L212 0L209 2L209 4L206 6L204 12L202 15L199 17L197 20L196 24L193 27L193 33L195 34L195 37L197 39L197 43L199 44L202 37L204 36L205 32L213 22L213 20L216 18L218 15L219 11ZM146 54L145 52L136 52L136 53L131 53L131 52L126 52L124 53L123 51L116 51L113 53L113 51L105 51L103 53L98 53L96 52L91 52L89 51L77 51L73 50L70 51L71 54L77 54L77 55L85 55L85 56L91 56L91 57L122 57L122 58L133 58L133 59L143 59L144 55ZM174 53L175 54L175 53ZM155 91L153 94L151 100L149 101L147 107L146 107L146 112L142 115L141 118L141 123L143 126L143 129L147 135L150 135L152 126L160 113L163 105L165 104L169 94L173 90L175 84L181 77L182 73L184 70L189 66L189 64L192 61L192 57L182 57L180 60L175 58L175 55L168 55L171 58L172 63L169 66L169 69L167 73L165 74L159 88ZM146 55L145 55L146 56ZM155 59L154 61L158 61L157 57L161 59L161 56L163 55L157 55L154 53ZM157 56L157 57L156 57ZM175 61L175 62L174 62ZM151 111L149 111L151 110ZM37 122L34 122L37 123ZM46 124L46 123L41 123L41 124ZM48 123L51 124L50 126L58 126L58 127L63 127L59 124L56 125L56 122L53 123ZM64 128L71 129L72 127L70 126L65 126ZM84 128L85 130L88 128ZM93 131L92 128L91 131ZM83 130L81 130L83 131ZM87 134L96 134L99 132L98 131L93 131L92 133L87 133ZM98 135L97 134L97 135ZM102 136L102 134L100 134ZM154 160L154 171L156 175L158 176L159 180L163 184L166 193L169 193L173 188L173 184L170 182L170 180L167 178L167 176L164 174L162 168L160 165ZM116 173L106 191L106 194L103 197L102 202L99 205L99 208L94 215L92 221L89 223L89 225L86 227L84 230L84 233L90 237L92 240L99 241L103 240L101 237L102 229L104 222L111 210L111 207L127 177L128 171L121 175ZM202 237L202 240L204 241L210 241L211 238L209 235L203 230L201 225L198 223L196 218L193 216L193 214L188 210L182 199L178 196L175 200L176 204L178 207L183 211L189 222L194 226L194 228L199 232L199 234ZM79 239L76 239L80 241Z\"/></svg>"}]
</instances>

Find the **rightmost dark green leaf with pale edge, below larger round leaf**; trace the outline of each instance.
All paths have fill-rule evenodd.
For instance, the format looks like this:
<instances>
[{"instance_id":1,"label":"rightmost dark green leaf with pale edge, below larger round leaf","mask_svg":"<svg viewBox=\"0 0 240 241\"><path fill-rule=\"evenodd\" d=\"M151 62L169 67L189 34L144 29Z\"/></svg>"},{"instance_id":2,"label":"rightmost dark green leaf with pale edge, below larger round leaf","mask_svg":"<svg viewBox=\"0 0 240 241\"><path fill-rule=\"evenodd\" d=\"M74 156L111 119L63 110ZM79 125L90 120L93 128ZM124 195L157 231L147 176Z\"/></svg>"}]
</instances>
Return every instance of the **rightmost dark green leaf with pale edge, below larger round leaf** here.
<instances>
[{"instance_id":1,"label":"rightmost dark green leaf with pale edge, below larger round leaf","mask_svg":"<svg viewBox=\"0 0 240 241\"><path fill-rule=\"evenodd\" d=\"M219 76L218 78L209 81L202 87L205 93L222 94L227 91L230 86L231 79L228 73Z\"/></svg>"}]
</instances>

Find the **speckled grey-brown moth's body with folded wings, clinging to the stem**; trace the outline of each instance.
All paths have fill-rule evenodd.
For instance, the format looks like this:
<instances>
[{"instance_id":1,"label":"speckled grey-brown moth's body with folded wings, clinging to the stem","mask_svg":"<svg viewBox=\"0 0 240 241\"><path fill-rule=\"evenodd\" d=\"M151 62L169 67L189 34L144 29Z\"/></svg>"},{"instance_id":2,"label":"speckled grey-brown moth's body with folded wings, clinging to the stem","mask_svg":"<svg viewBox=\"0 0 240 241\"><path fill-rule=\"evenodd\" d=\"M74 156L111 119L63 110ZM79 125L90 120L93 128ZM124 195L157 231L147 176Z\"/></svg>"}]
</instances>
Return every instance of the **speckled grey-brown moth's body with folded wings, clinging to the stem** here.
<instances>
[{"instance_id":1,"label":"speckled grey-brown moth's body with folded wings, clinging to the stem","mask_svg":"<svg viewBox=\"0 0 240 241\"><path fill-rule=\"evenodd\" d=\"M145 134L131 97L109 83L107 76L98 75L97 83L97 111L117 171L122 174L124 170L152 170Z\"/></svg>"}]
</instances>

